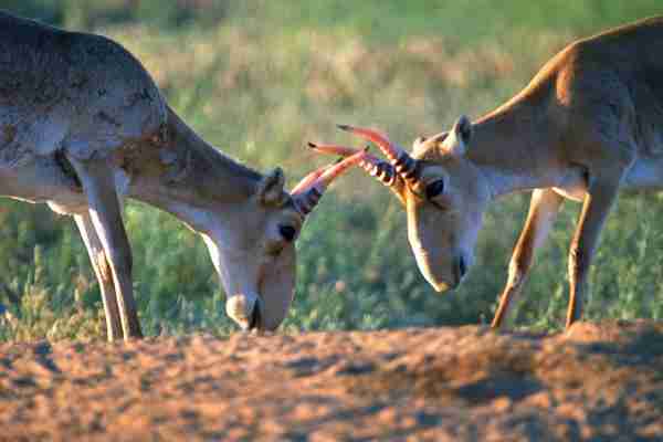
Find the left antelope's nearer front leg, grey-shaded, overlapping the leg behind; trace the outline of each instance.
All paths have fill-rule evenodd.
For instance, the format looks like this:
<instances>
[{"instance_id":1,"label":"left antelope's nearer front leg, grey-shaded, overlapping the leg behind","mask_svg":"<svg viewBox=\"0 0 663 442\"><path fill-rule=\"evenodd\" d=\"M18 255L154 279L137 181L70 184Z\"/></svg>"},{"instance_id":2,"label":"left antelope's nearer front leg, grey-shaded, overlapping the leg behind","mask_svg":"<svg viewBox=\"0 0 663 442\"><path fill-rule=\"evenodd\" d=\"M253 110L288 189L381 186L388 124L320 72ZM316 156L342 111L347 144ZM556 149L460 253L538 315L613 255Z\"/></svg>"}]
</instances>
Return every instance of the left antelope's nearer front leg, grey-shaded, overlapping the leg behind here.
<instances>
[{"instance_id":1,"label":"left antelope's nearer front leg, grey-shaded, overlapping the leg behind","mask_svg":"<svg viewBox=\"0 0 663 442\"><path fill-rule=\"evenodd\" d=\"M124 338L143 337L134 301L131 248L122 220L113 169L104 161L70 158L87 196L90 219L110 264Z\"/></svg>"}]
</instances>

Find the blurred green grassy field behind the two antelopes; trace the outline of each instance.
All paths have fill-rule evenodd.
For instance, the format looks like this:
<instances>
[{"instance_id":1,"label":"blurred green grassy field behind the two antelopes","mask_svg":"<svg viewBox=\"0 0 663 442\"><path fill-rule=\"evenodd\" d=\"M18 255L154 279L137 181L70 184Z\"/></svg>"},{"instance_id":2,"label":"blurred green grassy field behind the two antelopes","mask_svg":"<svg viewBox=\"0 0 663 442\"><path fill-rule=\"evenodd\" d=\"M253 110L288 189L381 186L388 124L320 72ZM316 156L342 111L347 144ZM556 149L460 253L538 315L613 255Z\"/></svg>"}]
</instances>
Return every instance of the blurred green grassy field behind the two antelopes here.
<instances>
[{"instance_id":1,"label":"blurred green grassy field behind the two antelopes","mask_svg":"<svg viewBox=\"0 0 663 442\"><path fill-rule=\"evenodd\" d=\"M350 141L335 123L373 125L404 145L476 118L526 85L573 38L661 12L656 0L288 1L4 0L0 7L108 35L154 75L206 139L292 186L312 165L308 139ZM659 4L659 7L656 7ZM663 204L623 194L590 276L586 317L663 316ZM506 278L528 194L494 204L463 287L434 293L419 274L396 200L352 172L335 185L298 242L296 301L283 329L371 329L487 322ZM579 206L567 202L517 311L557 327ZM126 222L149 335L234 329L202 242L137 203ZM0 200L0 340L101 338L98 287L73 222Z\"/></svg>"}]
</instances>

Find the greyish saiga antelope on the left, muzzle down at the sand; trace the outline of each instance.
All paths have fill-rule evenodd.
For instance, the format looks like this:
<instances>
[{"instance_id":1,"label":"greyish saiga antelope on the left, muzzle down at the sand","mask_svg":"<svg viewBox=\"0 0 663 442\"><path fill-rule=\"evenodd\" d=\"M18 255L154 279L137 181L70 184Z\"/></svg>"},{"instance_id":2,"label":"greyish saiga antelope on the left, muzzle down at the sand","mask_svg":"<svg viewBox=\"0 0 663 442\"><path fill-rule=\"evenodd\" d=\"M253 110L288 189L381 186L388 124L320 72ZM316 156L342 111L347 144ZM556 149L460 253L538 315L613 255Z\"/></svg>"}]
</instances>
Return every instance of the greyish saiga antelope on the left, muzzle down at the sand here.
<instances>
[{"instance_id":1,"label":"greyish saiga antelope on the left, muzzle down at the sand","mask_svg":"<svg viewBox=\"0 0 663 442\"><path fill-rule=\"evenodd\" d=\"M203 238L243 328L274 329L295 283L294 241L350 161L291 193L199 138L119 44L0 12L0 194L74 217L97 276L109 340L140 337L122 201L135 198Z\"/></svg>"}]
</instances>

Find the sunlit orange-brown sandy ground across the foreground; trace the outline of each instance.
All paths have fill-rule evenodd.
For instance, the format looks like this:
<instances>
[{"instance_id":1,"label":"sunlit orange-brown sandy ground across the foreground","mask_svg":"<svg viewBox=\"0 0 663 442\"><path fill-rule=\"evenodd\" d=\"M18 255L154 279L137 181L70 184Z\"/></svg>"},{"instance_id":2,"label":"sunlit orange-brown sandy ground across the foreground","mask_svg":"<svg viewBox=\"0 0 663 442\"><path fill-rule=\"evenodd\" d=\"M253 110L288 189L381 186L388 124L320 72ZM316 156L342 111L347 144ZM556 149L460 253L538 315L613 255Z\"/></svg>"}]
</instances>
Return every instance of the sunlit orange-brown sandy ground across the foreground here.
<instances>
[{"instance_id":1,"label":"sunlit orange-brown sandy ground across the foreground","mask_svg":"<svg viewBox=\"0 0 663 442\"><path fill-rule=\"evenodd\" d=\"M662 441L663 323L1 345L0 440Z\"/></svg>"}]
</instances>

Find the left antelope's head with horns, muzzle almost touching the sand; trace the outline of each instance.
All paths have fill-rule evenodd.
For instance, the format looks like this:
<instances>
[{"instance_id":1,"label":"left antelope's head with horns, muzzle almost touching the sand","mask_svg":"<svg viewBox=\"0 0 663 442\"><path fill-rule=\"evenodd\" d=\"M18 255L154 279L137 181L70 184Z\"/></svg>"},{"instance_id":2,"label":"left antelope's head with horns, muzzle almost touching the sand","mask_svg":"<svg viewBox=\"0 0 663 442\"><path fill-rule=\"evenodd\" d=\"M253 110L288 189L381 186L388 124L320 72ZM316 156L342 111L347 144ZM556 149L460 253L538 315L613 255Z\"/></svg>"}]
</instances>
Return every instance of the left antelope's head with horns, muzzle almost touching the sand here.
<instances>
[{"instance_id":1,"label":"left antelope's head with horns, muzzle almost touching the sand","mask_svg":"<svg viewBox=\"0 0 663 442\"><path fill-rule=\"evenodd\" d=\"M223 227L203 230L228 296L227 314L240 327L274 330L281 325L294 296L295 241L304 221L332 181L364 156L360 151L315 170L291 192L277 168L260 179Z\"/></svg>"}]
</instances>

